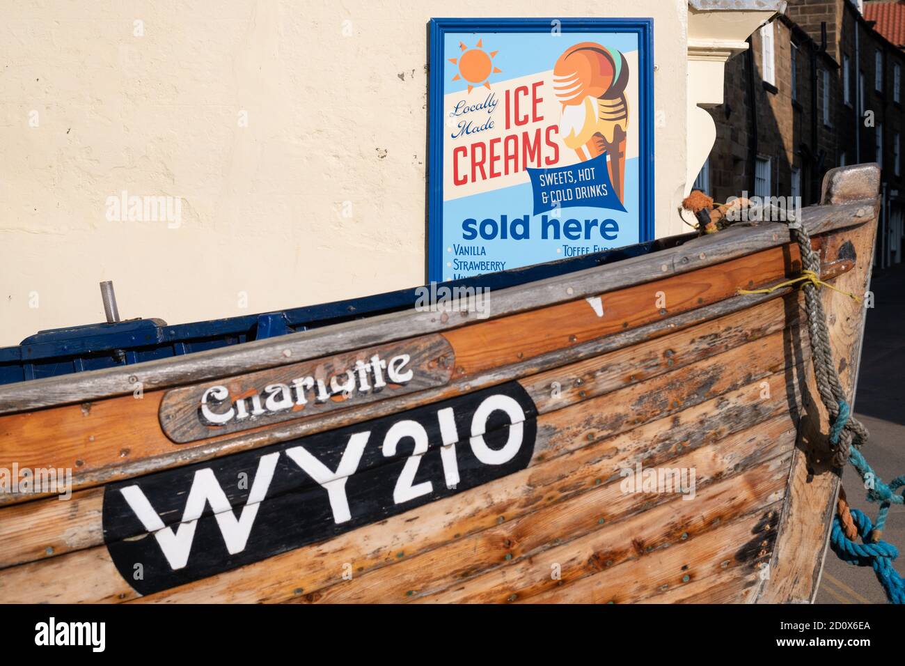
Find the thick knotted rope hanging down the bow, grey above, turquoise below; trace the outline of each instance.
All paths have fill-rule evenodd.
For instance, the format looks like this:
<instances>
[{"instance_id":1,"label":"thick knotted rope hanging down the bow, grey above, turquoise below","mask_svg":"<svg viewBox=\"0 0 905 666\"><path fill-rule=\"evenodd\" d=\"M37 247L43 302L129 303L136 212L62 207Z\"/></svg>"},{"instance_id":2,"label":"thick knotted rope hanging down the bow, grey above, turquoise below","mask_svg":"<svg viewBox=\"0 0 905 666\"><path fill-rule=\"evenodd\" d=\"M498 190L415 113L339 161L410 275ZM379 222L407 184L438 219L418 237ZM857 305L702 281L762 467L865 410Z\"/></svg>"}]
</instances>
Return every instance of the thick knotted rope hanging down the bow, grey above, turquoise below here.
<instances>
[{"instance_id":1,"label":"thick knotted rope hanging down the bow, grey above, turquoise below","mask_svg":"<svg viewBox=\"0 0 905 666\"><path fill-rule=\"evenodd\" d=\"M786 212L786 219L789 222L795 222L795 217L789 215L788 212ZM868 516L856 508L849 507L845 493L840 487L836 516L833 520L831 545L834 553L849 564L872 566L890 602L905 603L905 581L892 565L892 561L899 556L899 551L894 545L881 541L891 505L903 503L902 495L897 495L896 490L905 487L905 475L894 478L887 486L877 477L859 450L867 442L869 433L861 421L854 418L846 400L845 391L839 381L819 289L821 286L829 286L841 294L851 296L855 300L859 299L855 294L843 292L820 279L820 257L814 252L814 248L811 246L811 236L804 225L790 224L789 230L794 232L795 240L801 251L802 275L768 289L754 291L739 289L738 293L768 294L784 286L802 284L805 291L805 311L808 332L811 337L817 392L830 415L829 440L834 467L843 468L846 462L850 462L864 480L864 487L868 488L868 501L880 503L877 522L874 525ZM861 538L861 544L856 542L858 537Z\"/></svg>"}]
</instances>

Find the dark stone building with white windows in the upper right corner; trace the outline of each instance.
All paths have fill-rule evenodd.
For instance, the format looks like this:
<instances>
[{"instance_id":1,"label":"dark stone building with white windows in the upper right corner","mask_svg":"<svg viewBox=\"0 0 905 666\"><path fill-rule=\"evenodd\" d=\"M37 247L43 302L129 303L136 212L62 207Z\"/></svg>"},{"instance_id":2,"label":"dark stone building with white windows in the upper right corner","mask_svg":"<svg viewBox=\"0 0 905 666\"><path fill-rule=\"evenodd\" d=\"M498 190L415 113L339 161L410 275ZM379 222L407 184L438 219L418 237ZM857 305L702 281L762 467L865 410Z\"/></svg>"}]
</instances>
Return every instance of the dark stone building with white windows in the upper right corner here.
<instances>
[{"instance_id":1,"label":"dark stone building with white windows in the upper right corner","mask_svg":"<svg viewBox=\"0 0 905 666\"><path fill-rule=\"evenodd\" d=\"M891 12L891 7L901 14ZM725 103L710 110L717 140L696 186L717 201L741 192L814 204L828 169L877 161L883 204L876 264L900 263L905 241L905 133L896 34L905 3L789 0L785 14L726 64ZM881 32L886 25L891 32Z\"/></svg>"}]
</instances>

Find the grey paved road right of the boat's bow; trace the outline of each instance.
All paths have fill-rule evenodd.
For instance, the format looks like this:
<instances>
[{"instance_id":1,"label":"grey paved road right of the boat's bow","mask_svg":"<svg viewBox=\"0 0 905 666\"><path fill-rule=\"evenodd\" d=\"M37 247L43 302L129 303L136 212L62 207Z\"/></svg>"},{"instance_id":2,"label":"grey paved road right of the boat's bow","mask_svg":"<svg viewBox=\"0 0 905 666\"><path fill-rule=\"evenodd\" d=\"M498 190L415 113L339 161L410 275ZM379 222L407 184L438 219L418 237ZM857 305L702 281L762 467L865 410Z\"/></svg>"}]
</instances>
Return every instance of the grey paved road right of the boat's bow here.
<instances>
[{"instance_id":1,"label":"grey paved road right of the boat's bow","mask_svg":"<svg viewBox=\"0 0 905 666\"><path fill-rule=\"evenodd\" d=\"M862 453L889 482L905 474L905 265L874 272L871 290L874 308L867 314L855 413L871 431ZM877 506L864 499L862 480L851 465L843 487L853 507L876 516ZM896 568L905 574L905 507L891 509L883 538L902 551ZM829 550L816 601L886 603L886 596L870 567L847 565Z\"/></svg>"}]
</instances>

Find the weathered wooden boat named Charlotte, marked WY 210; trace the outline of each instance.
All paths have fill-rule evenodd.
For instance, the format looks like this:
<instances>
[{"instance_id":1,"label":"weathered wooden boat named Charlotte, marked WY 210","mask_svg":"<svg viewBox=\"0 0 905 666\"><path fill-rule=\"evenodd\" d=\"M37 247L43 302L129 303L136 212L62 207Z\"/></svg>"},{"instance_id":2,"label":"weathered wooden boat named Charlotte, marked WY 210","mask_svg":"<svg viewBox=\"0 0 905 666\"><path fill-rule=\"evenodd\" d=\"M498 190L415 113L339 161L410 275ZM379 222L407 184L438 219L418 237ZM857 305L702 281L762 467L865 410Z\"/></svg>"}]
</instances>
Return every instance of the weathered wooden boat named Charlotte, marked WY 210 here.
<instances>
[{"instance_id":1,"label":"weathered wooden boat named Charlotte, marked WY 210","mask_svg":"<svg viewBox=\"0 0 905 666\"><path fill-rule=\"evenodd\" d=\"M843 291L879 181L834 169L801 212ZM154 320L65 338L0 386L0 602L810 601L838 476L805 313L738 294L800 270L765 222L490 276L489 313L409 291L203 352ZM852 394L864 310L821 294Z\"/></svg>"}]
</instances>

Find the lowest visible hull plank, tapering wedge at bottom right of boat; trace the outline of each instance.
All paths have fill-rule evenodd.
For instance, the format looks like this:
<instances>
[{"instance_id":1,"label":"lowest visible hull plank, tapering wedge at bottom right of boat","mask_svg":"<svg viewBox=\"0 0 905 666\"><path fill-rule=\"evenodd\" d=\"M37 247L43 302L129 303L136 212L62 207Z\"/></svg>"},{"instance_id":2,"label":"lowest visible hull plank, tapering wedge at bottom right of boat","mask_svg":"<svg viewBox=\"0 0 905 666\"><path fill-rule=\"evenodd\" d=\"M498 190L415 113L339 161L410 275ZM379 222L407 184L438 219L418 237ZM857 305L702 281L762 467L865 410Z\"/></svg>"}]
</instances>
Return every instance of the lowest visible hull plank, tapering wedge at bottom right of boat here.
<instances>
[{"instance_id":1,"label":"lowest visible hull plank, tapering wedge at bottom right of boat","mask_svg":"<svg viewBox=\"0 0 905 666\"><path fill-rule=\"evenodd\" d=\"M782 500L705 534L529 597L523 603L635 603L720 569L757 571L773 551ZM761 554L764 555L761 555ZM516 603L521 603L517 601Z\"/></svg>"}]
</instances>

